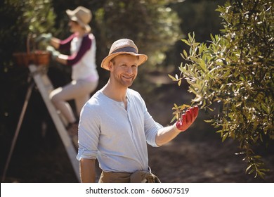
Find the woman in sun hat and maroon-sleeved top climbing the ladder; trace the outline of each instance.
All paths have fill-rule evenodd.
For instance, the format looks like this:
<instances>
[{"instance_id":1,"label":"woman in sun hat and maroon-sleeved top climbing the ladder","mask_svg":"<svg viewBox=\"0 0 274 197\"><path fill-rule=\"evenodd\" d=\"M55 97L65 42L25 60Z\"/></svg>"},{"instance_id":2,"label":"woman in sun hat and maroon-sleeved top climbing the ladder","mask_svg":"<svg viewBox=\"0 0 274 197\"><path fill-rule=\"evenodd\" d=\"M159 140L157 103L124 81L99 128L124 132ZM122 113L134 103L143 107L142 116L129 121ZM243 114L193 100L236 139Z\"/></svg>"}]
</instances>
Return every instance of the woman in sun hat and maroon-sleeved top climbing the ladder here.
<instances>
[{"instance_id":1,"label":"woman in sun hat and maroon-sleeved top climbing the ladder","mask_svg":"<svg viewBox=\"0 0 274 197\"><path fill-rule=\"evenodd\" d=\"M69 125L67 132L72 137L74 146L78 148L78 118L84 103L89 100L90 94L98 85L98 72L96 70L96 39L91 33L89 23L92 18L88 8L79 6L73 11L67 10L70 18L68 25L72 35L65 40L51 37L51 33L42 34L37 41L48 41L51 46L53 60L63 65L72 66L72 82L65 87L59 87L51 92L50 98L54 106L63 114ZM60 54L58 50L70 50L71 55ZM70 104L67 102L74 99L77 116L75 117Z\"/></svg>"}]
</instances>

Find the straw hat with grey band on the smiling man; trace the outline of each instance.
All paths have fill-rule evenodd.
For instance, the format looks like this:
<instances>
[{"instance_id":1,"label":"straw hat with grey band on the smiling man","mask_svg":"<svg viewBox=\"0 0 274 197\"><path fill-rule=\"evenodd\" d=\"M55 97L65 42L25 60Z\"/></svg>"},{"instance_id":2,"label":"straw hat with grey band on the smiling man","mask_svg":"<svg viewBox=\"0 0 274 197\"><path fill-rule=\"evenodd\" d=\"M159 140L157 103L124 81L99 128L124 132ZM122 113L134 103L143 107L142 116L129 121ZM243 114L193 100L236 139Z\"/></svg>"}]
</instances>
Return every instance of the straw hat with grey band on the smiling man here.
<instances>
[{"instance_id":1,"label":"straw hat with grey band on the smiling man","mask_svg":"<svg viewBox=\"0 0 274 197\"><path fill-rule=\"evenodd\" d=\"M115 58L115 56L122 54L129 54L131 56L139 57L138 65L141 65L148 60L148 56L145 54L138 54L138 48L131 39L118 39L113 42L108 56L106 56L101 63L101 67L105 68L105 70L110 70L108 68L108 63Z\"/></svg>"}]
</instances>

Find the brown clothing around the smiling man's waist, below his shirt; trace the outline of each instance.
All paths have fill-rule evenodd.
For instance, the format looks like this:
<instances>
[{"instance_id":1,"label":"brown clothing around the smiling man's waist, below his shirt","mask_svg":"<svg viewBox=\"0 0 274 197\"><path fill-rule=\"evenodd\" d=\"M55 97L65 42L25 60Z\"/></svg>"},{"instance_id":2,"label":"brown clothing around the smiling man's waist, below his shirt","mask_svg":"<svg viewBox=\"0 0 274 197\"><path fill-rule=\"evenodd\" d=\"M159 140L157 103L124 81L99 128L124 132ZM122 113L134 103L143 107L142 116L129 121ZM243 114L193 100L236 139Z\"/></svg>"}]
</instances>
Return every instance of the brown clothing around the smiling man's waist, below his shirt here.
<instances>
[{"instance_id":1,"label":"brown clothing around the smiling man's waist, below his shirt","mask_svg":"<svg viewBox=\"0 0 274 197\"><path fill-rule=\"evenodd\" d=\"M146 171L128 172L102 172L99 183L160 183L155 174Z\"/></svg>"}]
</instances>

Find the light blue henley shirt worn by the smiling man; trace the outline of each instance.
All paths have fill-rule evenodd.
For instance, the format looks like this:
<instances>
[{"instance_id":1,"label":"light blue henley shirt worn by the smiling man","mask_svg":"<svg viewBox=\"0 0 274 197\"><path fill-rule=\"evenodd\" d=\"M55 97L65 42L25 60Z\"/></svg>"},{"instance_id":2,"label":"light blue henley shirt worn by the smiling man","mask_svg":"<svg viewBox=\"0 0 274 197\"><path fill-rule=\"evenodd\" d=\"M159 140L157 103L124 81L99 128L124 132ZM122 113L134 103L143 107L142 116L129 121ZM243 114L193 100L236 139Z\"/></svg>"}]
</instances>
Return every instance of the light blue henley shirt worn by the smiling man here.
<instances>
[{"instance_id":1,"label":"light blue henley shirt worn by the smiling man","mask_svg":"<svg viewBox=\"0 0 274 197\"><path fill-rule=\"evenodd\" d=\"M81 110L77 159L98 159L105 172L148 170L148 148L162 125L137 91L126 91L127 109L97 91Z\"/></svg>"}]
</instances>

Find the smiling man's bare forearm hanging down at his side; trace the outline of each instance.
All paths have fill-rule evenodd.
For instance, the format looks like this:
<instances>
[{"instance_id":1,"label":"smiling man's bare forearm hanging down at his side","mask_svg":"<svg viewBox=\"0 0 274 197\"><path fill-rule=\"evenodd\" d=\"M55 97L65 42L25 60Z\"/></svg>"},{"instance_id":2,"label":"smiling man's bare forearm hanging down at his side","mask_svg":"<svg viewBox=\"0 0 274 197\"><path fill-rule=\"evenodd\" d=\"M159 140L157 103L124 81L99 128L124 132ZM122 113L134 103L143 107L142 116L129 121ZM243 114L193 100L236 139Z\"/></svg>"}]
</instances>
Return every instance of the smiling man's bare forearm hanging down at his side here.
<instances>
[{"instance_id":1,"label":"smiling man's bare forearm hanging down at his side","mask_svg":"<svg viewBox=\"0 0 274 197\"><path fill-rule=\"evenodd\" d=\"M82 183L95 183L95 160L81 159L80 160L80 176Z\"/></svg>"}]
</instances>

